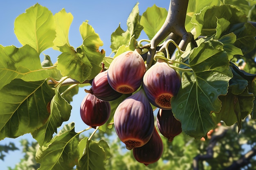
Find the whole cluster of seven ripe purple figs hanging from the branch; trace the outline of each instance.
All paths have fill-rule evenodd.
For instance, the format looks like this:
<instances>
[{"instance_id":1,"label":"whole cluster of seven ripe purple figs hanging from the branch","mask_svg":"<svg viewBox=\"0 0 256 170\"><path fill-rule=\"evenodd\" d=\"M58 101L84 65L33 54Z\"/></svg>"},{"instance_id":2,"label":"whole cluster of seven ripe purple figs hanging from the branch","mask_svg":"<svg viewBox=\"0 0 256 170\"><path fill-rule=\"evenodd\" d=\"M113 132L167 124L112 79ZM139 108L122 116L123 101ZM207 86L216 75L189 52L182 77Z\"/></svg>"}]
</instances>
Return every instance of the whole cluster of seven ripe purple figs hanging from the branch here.
<instances>
[{"instance_id":1,"label":"whole cluster of seven ripe purple figs hanging from the branch","mask_svg":"<svg viewBox=\"0 0 256 170\"><path fill-rule=\"evenodd\" d=\"M109 118L109 102L130 94L115 110L115 131L134 158L147 166L162 156L157 128L169 142L182 132L171 110L171 97L177 95L180 85L180 75L165 60L157 60L146 71L141 55L136 50L126 51L93 79L81 104L81 118L91 127L101 126ZM159 108L157 128L151 104Z\"/></svg>"}]
</instances>

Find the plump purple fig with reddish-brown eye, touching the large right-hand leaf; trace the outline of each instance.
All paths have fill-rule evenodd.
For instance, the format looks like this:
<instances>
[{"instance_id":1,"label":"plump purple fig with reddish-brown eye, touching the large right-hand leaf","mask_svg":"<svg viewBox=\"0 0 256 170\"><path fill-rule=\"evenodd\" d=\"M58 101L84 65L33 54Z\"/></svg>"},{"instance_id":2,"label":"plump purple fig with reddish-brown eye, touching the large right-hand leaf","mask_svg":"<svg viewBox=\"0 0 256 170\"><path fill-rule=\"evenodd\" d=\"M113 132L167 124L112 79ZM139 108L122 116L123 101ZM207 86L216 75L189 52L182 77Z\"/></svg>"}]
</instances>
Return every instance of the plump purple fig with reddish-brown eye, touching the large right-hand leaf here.
<instances>
[{"instance_id":1,"label":"plump purple fig with reddish-brown eye, touching the large right-hand leaf","mask_svg":"<svg viewBox=\"0 0 256 170\"><path fill-rule=\"evenodd\" d=\"M180 75L162 59L158 59L143 77L148 100L154 106L165 110L171 109L171 97L177 95L180 85Z\"/></svg>"}]
</instances>

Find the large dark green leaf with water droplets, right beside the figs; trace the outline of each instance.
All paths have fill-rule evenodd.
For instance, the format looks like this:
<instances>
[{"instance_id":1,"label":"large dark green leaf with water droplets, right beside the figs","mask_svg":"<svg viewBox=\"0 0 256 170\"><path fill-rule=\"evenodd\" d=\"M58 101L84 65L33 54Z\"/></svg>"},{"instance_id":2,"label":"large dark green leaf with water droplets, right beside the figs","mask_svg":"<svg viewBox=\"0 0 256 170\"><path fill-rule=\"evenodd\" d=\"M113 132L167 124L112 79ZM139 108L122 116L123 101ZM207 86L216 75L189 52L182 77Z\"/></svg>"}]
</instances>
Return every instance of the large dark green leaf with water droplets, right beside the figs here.
<instances>
[{"instance_id":1,"label":"large dark green leaf with water droplets, right beside the figs","mask_svg":"<svg viewBox=\"0 0 256 170\"><path fill-rule=\"evenodd\" d=\"M182 85L172 97L172 110L182 123L182 130L196 139L204 137L215 126L210 113L221 109L219 95L226 95L232 77L223 44L203 42L189 56L193 72L182 73Z\"/></svg>"}]
</instances>

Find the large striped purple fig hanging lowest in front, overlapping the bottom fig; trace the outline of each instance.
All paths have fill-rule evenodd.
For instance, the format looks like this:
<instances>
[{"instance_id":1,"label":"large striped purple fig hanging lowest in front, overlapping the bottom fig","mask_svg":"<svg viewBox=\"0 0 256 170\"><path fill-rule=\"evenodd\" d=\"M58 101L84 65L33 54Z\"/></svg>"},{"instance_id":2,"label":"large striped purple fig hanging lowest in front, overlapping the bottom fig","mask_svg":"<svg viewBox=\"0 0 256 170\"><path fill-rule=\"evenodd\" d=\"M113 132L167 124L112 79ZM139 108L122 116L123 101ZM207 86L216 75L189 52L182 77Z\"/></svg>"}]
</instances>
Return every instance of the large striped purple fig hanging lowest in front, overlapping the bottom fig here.
<instances>
[{"instance_id":1,"label":"large striped purple fig hanging lowest in front, overlapping the bottom fig","mask_svg":"<svg viewBox=\"0 0 256 170\"><path fill-rule=\"evenodd\" d=\"M142 88L117 106L114 125L117 136L128 150L149 141L154 130L154 115Z\"/></svg>"}]
</instances>

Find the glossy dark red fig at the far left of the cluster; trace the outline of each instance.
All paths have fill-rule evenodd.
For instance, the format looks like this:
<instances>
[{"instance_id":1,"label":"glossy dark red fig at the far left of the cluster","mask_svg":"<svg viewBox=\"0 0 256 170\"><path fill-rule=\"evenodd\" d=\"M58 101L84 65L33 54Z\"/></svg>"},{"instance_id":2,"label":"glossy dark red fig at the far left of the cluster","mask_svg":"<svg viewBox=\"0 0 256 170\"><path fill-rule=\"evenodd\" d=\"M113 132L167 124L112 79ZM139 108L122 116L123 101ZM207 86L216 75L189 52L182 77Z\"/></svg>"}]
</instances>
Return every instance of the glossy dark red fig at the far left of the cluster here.
<instances>
[{"instance_id":1,"label":"glossy dark red fig at the far left of the cluster","mask_svg":"<svg viewBox=\"0 0 256 170\"><path fill-rule=\"evenodd\" d=\"M105 124L110 117L110 111L109 102L98 99L90 93L85 96L80 107L83 122L92 128Z\"/></svg>"}]
</instances>

